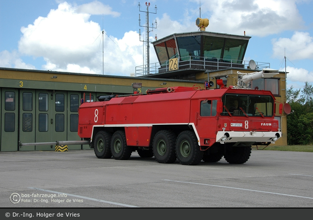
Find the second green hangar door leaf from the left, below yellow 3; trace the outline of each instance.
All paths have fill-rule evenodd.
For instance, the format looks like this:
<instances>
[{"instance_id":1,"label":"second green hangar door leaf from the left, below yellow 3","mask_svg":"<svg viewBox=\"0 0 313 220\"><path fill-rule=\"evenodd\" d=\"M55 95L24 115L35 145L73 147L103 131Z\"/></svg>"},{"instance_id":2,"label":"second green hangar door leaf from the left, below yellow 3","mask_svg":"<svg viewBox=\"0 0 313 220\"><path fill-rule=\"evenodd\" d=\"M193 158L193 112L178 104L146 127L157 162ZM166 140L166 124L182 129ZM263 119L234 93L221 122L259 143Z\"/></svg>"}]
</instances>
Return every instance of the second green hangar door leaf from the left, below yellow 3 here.
<instances>
[{"instance_id":1,"label":"second green hangar door leaf from the left, below yellow 3","mask_svg":"<svg viewBox=\"0 0 313 220\"><path fill-rule=\"evenodd\" d=\"M19 91L19 141L21 143L34 143L35 142L35 103L36 103L35 90L21 89ZM33 146L21 146L20 151L34 151Z\"/></svg>"}]
</instances>

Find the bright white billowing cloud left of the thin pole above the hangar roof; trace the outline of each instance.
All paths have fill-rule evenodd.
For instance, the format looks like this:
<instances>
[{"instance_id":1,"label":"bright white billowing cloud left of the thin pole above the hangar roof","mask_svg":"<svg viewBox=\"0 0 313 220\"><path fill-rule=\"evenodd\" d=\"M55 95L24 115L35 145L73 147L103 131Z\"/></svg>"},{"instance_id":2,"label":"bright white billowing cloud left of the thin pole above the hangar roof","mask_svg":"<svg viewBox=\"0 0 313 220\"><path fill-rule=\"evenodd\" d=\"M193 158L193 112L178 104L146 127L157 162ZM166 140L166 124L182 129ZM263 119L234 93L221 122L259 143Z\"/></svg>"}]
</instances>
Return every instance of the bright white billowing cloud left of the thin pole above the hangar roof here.
<instances>
[{"instance_id":1,"label":"bright white billowing cloud left of the thin pole above the hangar roof","mask_svg":"<svg viewBox=\"0 0 313 220\"><path fill-rule=\"evenodd\" d=\"M19 51L44 56L61 67L66 65L65 57L68 61L83 61L94 53L97 46L92 43L100 33L99 25L88 21L89 16L75 13L67 2L61 3L47 17L38 17L34 24L21 28Z\"/></svg>"}]
</instances>

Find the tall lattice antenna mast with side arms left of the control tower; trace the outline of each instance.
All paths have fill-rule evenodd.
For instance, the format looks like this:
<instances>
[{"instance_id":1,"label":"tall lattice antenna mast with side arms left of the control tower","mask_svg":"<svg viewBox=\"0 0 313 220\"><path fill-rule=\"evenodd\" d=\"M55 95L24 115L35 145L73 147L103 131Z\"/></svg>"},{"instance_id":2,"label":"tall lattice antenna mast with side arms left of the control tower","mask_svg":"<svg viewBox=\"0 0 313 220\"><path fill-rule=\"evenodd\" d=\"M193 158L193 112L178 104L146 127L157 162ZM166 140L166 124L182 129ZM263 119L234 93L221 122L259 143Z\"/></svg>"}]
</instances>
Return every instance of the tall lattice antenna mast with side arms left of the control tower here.
<instances>
[{"instance_id":1,"label":"tall lattice antenna mast with side arms left of the control tower","mask_svg":"<svg viewBox=\"0 0 313 220\"><path fill-rule=\"evenodd\" d=\"M138 3L138 6L139 6L139 11L140 10L140 2ZM146 29L146 40L141 40L141 30L139 29L139 40L146 43L146 74L149 75L150 74L150 42L149 42L149 33L151 31L153 31L153 29L157 28L157 20L155 21L156 23L156 27L154 27L154 23L152 23L152 27L149 26L149 13L153 13L153 14L156 14L157 13L157 5L156 5L156 12L149 12L149 6L150 6L150 2L147 3L146 2L146 6L147 6L147 11L141 11L141 12L145 12L146 13L146 25L145 26L142 26L140 24L140 14L139 14L139 26L140 27L144 27ZM152 30L150 30L150 28L152 28ZM143 55L145 56L145 55ZM145 63L144 63L144 66L145 66ZM144 68L145 69L145 68Z\"/></svg>"}]
</instances>

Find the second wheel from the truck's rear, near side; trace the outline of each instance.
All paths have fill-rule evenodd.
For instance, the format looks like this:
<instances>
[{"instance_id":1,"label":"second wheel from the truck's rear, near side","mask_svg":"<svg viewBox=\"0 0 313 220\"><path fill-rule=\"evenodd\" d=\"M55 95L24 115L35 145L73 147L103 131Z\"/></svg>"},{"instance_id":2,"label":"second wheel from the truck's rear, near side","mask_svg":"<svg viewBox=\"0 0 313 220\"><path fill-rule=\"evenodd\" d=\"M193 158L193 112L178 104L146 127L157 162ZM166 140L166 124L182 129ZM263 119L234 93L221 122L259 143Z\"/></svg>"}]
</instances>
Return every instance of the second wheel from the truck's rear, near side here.
<instances>
[{"instance_id":1,"label":"second wheel from the truck's rear, near side","mask_svg":"<svg viewBox=\"0 0 313 220\"><path fill-rule=\"evenodd\" d=\"M127 160L133 149L127 146L124 131L115 131L111 139L111 153L115 160Z\"/></svg>"}]
</instances>

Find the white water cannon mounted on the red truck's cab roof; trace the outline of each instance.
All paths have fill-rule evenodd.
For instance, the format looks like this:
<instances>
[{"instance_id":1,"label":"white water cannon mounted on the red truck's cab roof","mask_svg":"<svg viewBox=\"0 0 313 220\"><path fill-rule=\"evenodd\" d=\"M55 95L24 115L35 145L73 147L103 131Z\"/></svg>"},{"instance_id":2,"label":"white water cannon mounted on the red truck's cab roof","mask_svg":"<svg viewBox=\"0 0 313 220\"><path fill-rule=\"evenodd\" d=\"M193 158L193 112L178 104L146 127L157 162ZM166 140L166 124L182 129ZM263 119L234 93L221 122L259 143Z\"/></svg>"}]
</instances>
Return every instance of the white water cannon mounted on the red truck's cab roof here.
<instances>
[{"instance_id":1,"label":"white water cannon mounted on the red truck's cab roof","mask_svg":"<svg viewBox=\"0 0 313 220\"><path fill-rule=\"evenodd\" d=\"M260 78L271 78L277 74L277 69L265 68L262 71L251 72L251 73L241 73L237 71L238 81L237 87L239 88L248 88L250 86L250 81Z\"/></svg>"}]
</instances>

